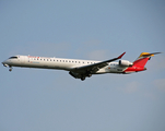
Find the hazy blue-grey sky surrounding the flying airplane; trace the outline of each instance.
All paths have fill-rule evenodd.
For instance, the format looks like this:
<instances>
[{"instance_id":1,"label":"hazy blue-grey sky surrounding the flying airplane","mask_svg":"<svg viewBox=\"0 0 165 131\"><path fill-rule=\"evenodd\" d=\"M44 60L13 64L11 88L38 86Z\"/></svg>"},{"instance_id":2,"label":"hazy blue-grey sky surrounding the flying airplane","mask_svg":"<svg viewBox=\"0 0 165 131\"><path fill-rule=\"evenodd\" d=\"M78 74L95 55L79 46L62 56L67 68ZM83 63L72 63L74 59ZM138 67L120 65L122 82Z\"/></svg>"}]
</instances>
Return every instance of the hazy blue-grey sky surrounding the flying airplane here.
<instances>
[{"instance_id":1,"label":"hazy blue-grey sky surrounding the flying airplane","mask_svg":"<svg viewBox=\"0 0 165 131\"><path fill-rule=\"evenodd\" d=\"M75 80L0 68L0 131L165 131L164 0L1 0L0 61L13 55L153 57L144 72Z\"/></svg>"}]
</instances>

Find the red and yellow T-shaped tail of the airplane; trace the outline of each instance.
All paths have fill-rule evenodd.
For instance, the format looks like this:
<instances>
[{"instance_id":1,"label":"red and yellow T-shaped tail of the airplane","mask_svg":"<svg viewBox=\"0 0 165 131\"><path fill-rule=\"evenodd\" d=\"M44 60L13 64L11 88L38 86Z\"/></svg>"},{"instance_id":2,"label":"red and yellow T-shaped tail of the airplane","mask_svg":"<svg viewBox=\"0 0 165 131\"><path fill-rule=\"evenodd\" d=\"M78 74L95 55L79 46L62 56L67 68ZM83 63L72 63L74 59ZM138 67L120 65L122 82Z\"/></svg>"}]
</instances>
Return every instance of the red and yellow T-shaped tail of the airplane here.
<instances>
[{"instance_id":1,"label":"red and yellow T-shaped tail of the airplane","mask_svg":"<svg viewBox=\"0 0 165 131\"><path fill-rule=\"evenodd\" d=\"M148 62L148 60L151 59L151 57L153 57L154 55L157 55L161 52L142 52L138 59L133 62L132 67L129 67L127 70L125 70L125 73L131 73L131 72L139 72L139 71L144 71L146 70L145 64Z\"/></svg>"}]
</instances>

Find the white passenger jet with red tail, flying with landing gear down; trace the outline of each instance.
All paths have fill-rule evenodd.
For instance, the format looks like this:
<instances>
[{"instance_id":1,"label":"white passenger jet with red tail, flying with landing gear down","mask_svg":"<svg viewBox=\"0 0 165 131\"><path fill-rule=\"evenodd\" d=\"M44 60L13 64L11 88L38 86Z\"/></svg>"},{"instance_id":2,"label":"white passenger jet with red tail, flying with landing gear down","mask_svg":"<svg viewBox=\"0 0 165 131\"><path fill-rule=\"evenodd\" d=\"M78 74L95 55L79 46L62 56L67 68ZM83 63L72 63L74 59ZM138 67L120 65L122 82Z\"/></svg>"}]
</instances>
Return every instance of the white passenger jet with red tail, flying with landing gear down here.
<instances>
[{"instance_id":1,"label":"white passenger jet with red tail, flying with landing gear down","mask_svg":"<svg viewBox=\"0 0 165 131\"><path fill-rule=\"evenodd\" d=\"M84 81L86 78L91 78L93 74L128 74L132 72L145 71L146 68L144 66L146 64L148 60L150 60L154 55L161 52L142 52L134 62L130 62L128 60L113 62L121 59L125 53L126 51L117 58L105 61L17 55L10 57L8 60L3 61L2 64L4 67L9 67L9 71L12 71L12 67L66 70L69 71L69 74L73 78Z\"/></svg>"}]
</instances>

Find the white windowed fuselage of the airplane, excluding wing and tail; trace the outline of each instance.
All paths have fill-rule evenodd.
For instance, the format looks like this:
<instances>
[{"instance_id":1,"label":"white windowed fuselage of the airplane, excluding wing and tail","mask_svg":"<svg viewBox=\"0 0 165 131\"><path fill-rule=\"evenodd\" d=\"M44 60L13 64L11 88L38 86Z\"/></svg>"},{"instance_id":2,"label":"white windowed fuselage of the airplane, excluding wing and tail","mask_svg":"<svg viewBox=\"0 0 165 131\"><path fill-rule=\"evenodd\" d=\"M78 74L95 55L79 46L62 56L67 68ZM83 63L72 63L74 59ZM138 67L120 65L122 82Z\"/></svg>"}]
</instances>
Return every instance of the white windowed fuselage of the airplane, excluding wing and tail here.
<instances>
[{"instance_id":1,"label":"white windowed fuselage of the airplane, excluding wing and tail","mask_svg":"<svg viewBox=\"0 0 165 131\"><path fill-rule=\"evenodd\" d=\"M17 59L15 59L15 58ZM79 59L63 59L63 58L47 58L33 56L14 56L3 62L9 67L23 68L42 68L42 69L58 69L71 71L73 68L94 64L101 61L79 60ZM99 69L96 73L121 73L126 67L120 67L118 62L110 62L108 66Z\"/></svg>"}]
</instances>

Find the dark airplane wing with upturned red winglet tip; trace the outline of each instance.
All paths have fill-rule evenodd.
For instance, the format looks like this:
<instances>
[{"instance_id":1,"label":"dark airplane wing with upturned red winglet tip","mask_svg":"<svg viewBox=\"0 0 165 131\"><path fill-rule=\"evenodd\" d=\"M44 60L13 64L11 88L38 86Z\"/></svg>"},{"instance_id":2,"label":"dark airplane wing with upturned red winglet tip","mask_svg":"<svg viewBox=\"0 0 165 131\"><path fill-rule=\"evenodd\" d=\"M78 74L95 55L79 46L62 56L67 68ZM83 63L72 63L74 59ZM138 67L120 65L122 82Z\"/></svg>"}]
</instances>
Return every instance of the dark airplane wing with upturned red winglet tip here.
<instances>
[{"instance_id":1,"label":"dark airplane wing with upturned red winglet tip","mask_svg":"<svg viewBox=\"0 0 165 131\"><path fill-rule=\"evenodd\" d=\"M108 66L109 62L115 61L115 60L118 60L118 59L121 59L125 53L126 53L126 52L123 52L123 53L120 55L119 57L114 58L114 59L110 59L110 60L105 60L105 61L97 62L97 63L94 63L94 64L89 64L89 66L83 66L83 67L73 68L72 71L73 71L73 72L76 72L76 73L86 73L86 72L95 73L95 72L97 72L99 69L102 69L102 68Z\"/></svg>"}]
</instances>

